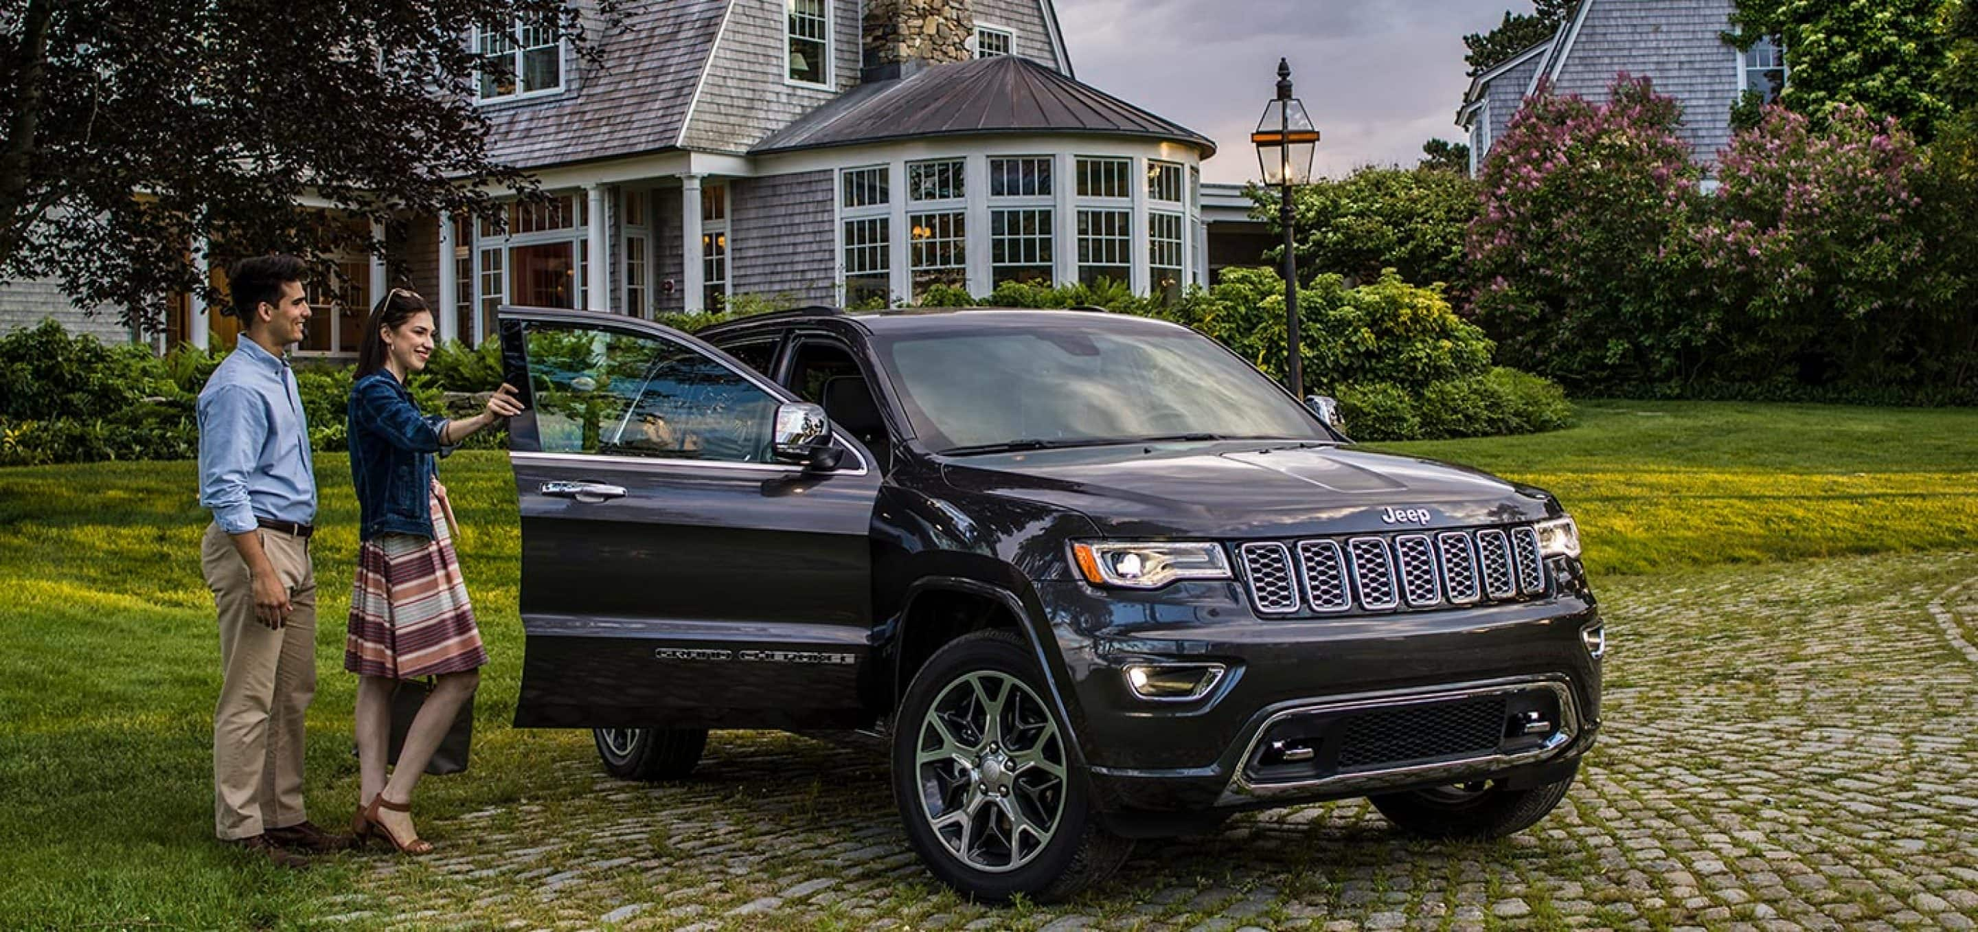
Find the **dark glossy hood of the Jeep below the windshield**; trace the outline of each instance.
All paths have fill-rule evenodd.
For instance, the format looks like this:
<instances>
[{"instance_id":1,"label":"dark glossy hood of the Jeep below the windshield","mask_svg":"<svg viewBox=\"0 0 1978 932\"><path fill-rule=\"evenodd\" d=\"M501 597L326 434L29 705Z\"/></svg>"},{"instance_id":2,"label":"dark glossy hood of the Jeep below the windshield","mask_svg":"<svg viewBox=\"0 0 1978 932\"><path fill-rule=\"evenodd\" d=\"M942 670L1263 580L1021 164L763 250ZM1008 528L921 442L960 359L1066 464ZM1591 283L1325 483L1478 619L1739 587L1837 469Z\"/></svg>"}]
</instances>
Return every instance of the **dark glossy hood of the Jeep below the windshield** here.
<instances>
[{"instance_id":1,"label":"dark glossy hood of the Jeep below the windshield","mask_svg":"<svg viewBox=\"0 0 1978 932\"><path fill-rule=\"evenodd\" d=\"M1147 443L951 457L949 485L1084 513L1112 538L1274 538L1509 524L1551 495L1476 469L1335 445Z\"/></svg>"}]
</instances>

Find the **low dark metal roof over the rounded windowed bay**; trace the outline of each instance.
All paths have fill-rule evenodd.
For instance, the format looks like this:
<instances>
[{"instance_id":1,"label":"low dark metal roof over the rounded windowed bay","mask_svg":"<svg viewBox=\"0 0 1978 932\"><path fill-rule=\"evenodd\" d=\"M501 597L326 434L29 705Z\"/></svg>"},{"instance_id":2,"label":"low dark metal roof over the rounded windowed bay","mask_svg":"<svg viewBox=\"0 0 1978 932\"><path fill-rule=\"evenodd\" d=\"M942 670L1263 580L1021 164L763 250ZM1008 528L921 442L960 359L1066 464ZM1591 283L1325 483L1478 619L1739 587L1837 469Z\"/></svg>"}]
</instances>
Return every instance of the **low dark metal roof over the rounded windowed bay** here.
<instances>
[{"instance_id":1,"label":"low dark metal roof over the rounded windowed bay","mask_svg":"<svg viewBox=\"0 0 1978 932\"><path fill-rule=\"evenodd\" d=\"M1076 133L1216 144L1177 123L1017 55L932 65L862 83L764 139L750 154L894 139Z\"/></svg>"}]
</instances>

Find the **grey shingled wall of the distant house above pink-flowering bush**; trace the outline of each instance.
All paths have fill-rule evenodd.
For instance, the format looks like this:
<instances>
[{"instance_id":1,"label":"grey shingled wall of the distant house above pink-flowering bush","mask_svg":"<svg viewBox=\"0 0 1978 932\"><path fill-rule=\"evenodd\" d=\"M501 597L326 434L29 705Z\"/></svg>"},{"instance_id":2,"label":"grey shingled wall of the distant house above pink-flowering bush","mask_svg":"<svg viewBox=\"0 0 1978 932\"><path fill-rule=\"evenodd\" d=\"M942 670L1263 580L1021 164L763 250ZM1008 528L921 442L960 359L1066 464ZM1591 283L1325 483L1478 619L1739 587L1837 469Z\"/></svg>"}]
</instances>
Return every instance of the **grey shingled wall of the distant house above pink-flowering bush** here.
<instances>
[{"instance_id":1,"label":"grey shingled wall of the distant house above pink-flowering bush","mask_svg":"<svg viewBox=\"0 0 1978 932\"><path fill-rule=\"evenodd\" d=\"M1725 44L1733 0L1586 0L1586 20L1553 89L1606 101L1614 75L1648 75L1656 91L1683 105L1681 137L1695 158L1713 162L1731 142L1739 57Z\"/></svg>"}]
</instances>

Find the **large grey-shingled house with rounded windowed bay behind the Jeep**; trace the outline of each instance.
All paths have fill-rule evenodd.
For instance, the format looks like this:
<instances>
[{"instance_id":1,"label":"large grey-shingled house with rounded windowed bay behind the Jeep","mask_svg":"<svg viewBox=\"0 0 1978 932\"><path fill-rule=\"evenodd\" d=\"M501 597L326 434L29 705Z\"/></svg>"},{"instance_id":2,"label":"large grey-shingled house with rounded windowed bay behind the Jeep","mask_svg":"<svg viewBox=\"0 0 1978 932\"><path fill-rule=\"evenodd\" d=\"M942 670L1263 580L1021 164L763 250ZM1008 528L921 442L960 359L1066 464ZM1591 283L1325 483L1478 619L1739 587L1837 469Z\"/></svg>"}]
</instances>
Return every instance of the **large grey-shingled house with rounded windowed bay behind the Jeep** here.
<instances>
[{"instance_id":1,"label":"large grey-shingled house with rounded windowed bay behind the Jeep","mask_svg":"<svg viewBox=\"0 0 1978 932\"><path fill-rule=\"evenodd\" d=\"M303 354L354 352L386 283L479 342L504 303L651 317L736 295L908 303L930 285L1203 281L1214 144L1078 83L1052 0L649 0L597 63L516 24L475 36L493 150L546 208L404 218L316 287ZM504 77L506 75L506 77ZM220 257L216 255L216 263ZM216 271L218 273L218 271ZM231 346L178 301L164 342Z\"/></svg>"}]
</instances>

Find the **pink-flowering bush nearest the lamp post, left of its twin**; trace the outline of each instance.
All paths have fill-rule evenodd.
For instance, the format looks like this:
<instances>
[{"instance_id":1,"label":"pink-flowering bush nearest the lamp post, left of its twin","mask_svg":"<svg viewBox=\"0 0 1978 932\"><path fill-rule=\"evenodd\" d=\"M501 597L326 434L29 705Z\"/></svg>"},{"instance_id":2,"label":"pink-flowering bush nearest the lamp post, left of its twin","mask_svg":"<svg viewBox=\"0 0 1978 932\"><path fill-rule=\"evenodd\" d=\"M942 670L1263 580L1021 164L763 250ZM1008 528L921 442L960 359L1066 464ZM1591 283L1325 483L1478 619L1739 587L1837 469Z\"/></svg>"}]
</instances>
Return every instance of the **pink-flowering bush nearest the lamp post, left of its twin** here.
<instances>
[{"instance_id":1,"label":"pink-flowering bush nearest the lamp post, left of its twin","mask_svg":"<svg viewBox=\"0 0 1978 932\"><path fill-rule=\"evenodd\" d=\"M1539 91L1482 172L1478 319L1505 362L1571 384L1687 378L1717 328L1687 237L1699 170L1681 107L1616 77L1610 103Z\"/></svg>"}]
</instances>

